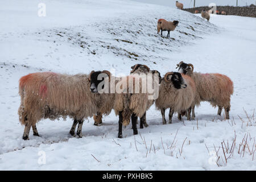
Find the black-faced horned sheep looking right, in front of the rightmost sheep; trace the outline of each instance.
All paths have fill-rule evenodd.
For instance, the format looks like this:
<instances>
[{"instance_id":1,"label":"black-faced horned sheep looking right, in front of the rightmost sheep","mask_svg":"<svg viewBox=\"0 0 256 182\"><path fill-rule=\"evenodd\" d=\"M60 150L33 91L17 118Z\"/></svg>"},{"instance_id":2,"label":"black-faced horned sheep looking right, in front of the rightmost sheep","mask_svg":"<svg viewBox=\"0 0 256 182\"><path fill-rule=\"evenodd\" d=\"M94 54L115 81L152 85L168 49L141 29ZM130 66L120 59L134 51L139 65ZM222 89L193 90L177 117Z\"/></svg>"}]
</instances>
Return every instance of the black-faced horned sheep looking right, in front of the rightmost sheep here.
<instances>
[{"instance_id":1,"label":"black-faced horned sheep looking right, in front of the rightmost sheep","mask_svg":"<svg viewBox=\"0 0 256 182\"><path fill-rule=\"evenodd\" d=\"M161 111L163 124L166 124L164 114L167 108L170 108L169 123L172 123L174 112L181 113L181 111L191 108L195 94L196 86L191 77L178 72L166 73L160 81L159 97L155 101L156 109ZM181 120L180 115L178 119Z\"/></svg>"}]
</instances>

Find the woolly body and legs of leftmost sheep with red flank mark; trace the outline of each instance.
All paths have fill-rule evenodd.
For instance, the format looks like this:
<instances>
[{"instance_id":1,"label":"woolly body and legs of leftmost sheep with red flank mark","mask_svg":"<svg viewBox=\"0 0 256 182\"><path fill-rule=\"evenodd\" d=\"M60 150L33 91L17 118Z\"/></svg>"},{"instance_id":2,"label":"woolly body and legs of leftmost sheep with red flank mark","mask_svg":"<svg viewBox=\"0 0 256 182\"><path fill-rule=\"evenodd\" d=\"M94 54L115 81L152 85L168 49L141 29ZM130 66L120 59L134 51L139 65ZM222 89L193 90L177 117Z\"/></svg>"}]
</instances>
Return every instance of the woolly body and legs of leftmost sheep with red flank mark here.
<instances>
[{"instance_id":1,"label":"woolly body and legs of leftmost sheep with red flank mark","mask_svg":"<svg viewBox=\"0 0 256 182\"><path fill-rule=\"evenodd\" d=\"M19 80L19 121L25 125L23 139L27 140L30 128L39 136L36 123L40 119L59 117L74 119L69 133L82 137L84 118L97 111L98 95L90 92L88 75L62 75L53 72L38 72L23 76Z\"/></svg>"}]
</instances>

